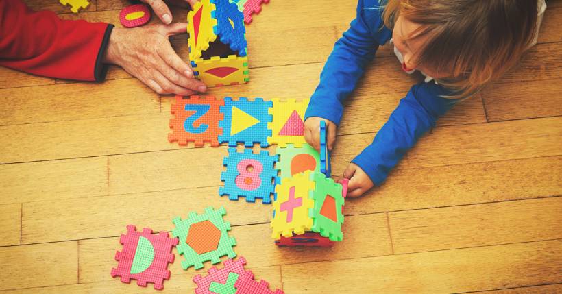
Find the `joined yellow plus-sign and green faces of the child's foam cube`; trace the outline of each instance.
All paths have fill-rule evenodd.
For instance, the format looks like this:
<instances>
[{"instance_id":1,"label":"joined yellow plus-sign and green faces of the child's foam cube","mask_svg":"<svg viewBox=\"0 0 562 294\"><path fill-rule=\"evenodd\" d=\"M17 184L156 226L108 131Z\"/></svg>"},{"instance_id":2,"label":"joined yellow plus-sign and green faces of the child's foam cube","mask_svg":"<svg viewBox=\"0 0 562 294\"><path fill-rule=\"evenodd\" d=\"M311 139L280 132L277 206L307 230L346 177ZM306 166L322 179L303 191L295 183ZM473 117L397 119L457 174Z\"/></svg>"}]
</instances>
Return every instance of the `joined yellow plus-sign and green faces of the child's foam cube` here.
<instances>
[{"instance_id":1,"label":"joined yellow plus-sign and green faces of the child's foam cube","mask_svg":"<svg viewBox=\"0 0 562 294\"><path fill-rule=\"evenodd\" d=\"M341 184L323 173L305 171L284 178L276 186L271 237L302 238L306 232L319 233L330 241L341 241L343 205ZM278 245L291 245L278 243Z\"/></svg>"}]
</instances>

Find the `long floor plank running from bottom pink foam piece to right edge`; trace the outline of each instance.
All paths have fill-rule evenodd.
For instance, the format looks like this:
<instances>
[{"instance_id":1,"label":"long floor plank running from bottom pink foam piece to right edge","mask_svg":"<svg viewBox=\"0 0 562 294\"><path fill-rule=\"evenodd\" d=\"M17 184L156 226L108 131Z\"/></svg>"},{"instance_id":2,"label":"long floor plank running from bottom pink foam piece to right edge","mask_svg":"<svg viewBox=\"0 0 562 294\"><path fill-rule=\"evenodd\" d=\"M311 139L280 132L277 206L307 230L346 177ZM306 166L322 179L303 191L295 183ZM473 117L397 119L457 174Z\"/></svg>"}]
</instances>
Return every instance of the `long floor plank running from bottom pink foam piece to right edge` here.
<instances>
[{"instance_id":1,"label":"long floor plank running from bottom pink foam piece to right edge","mask_svg":"<svg viewBox=\"0 0 562 294\"><path fill-rule=\"evenodd\" d=\"M286 293L459 293L560 283L561 260L562 241L543 241L282 265L281 271Z\"/></svg>"}]
</instances>

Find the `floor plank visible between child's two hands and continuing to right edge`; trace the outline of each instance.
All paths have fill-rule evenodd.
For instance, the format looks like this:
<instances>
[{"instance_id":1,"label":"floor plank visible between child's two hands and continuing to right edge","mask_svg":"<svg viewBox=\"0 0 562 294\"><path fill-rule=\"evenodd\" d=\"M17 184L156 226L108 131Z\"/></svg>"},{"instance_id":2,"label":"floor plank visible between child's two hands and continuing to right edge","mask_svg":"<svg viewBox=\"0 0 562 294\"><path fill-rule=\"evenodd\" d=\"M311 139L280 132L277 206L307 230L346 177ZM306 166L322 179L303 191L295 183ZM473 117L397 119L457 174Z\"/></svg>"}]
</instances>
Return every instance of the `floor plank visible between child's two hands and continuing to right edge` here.
<instances>
[{"instance_id":1,"label":"floor plank visible between child's two hands and continuing to right edge","mask_svg":"<svg viewBox=\"0 0 562 294\"><path fill-rule=\"evenodd\" d=\"M399 169L491 162L561 155L562 118L438 127L424 136L398 165ZM517 134L515 136L514 134ZM374 134L341 136L332 153L332 171L341 174ZM462 147L462 150L459 149Z\"/></svg>"}]
</instances>

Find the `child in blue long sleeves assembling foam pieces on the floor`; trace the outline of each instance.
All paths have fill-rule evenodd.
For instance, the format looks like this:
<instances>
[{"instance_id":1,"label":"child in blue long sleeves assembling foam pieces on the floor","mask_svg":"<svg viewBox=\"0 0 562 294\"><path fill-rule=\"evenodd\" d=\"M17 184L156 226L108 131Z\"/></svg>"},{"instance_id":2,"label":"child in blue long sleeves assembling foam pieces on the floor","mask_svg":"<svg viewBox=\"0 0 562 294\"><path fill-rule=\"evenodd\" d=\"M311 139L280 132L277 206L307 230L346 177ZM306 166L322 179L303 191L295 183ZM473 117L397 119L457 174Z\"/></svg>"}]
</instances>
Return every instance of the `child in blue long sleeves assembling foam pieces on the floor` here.
<instances>
[{"instance_id":1,"label":"child in blue long sleeves assembling foam pieces on the floor","mask_svg":"<svg viewBox=\"0 0 562 294\"><path fill-rule=\"evenodd\" d=\"M393 41L402 69L419 70L426 80L412 86L343 172L351 197L380 186L438 117L500 77L536 42L545 8L544 0L359 0L356 19L336 42L310 98L306 141L319 149L324 120L332 149L343 101L378 46Z\"/></svg>"}]
</instances>

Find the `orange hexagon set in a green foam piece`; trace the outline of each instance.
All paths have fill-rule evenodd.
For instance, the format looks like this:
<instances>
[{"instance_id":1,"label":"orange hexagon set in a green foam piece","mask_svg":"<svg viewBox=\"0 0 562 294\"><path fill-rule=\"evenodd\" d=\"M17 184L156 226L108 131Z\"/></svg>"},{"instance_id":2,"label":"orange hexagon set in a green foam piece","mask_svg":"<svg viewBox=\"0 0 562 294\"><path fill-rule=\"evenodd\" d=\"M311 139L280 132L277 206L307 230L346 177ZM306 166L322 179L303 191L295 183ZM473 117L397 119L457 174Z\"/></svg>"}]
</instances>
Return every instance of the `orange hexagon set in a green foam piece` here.
<instances>
[{"instance_id":1,"label":"orange hexagon set in a green foam piece","mask_svg":"<svg viewBox=\"0 0 562 294\"><path fill-rule=\"evenodd\" d=\"M211 221L201 221L194 223L187 232L186 243L193 248L197 254L204 254L217 250L221 241L221 230Z\"/></svg>"}]
</instances>

